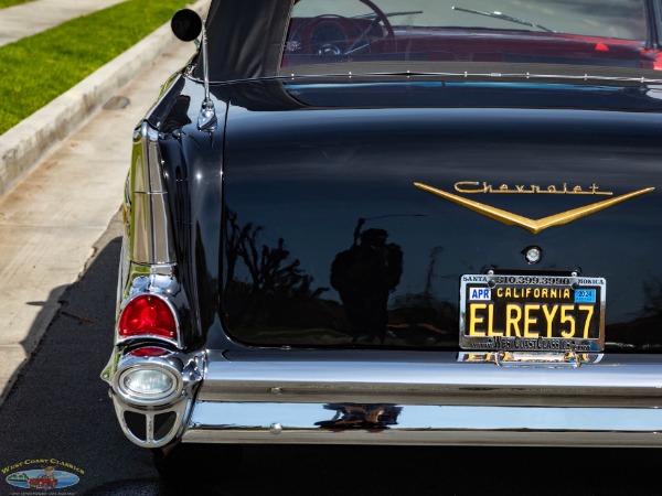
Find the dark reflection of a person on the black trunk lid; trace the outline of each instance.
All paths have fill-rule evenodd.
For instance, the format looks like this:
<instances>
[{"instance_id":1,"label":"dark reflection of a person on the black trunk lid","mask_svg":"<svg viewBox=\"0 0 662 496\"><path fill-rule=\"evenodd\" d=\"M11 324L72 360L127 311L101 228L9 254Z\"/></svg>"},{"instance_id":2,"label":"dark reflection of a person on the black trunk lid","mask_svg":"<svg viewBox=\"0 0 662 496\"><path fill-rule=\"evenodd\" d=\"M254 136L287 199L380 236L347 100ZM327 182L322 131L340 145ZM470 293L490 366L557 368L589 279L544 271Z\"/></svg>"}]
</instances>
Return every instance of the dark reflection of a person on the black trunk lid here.
<instances>
[{"instance_id":1,"label":"dark reflection of a person on the black trunk lid","mask_svg":"<svg viewBox=\"0 0 662 496\"><path fill-rule=\"evenodd\" d=\"M359 336L371 336L384 344L388 294L403 273L403 250L387 239L384 229L355 233L354 245L338 254L331 266L331 285L342 300L352 343Z\"/></svg>"}]
</instances>

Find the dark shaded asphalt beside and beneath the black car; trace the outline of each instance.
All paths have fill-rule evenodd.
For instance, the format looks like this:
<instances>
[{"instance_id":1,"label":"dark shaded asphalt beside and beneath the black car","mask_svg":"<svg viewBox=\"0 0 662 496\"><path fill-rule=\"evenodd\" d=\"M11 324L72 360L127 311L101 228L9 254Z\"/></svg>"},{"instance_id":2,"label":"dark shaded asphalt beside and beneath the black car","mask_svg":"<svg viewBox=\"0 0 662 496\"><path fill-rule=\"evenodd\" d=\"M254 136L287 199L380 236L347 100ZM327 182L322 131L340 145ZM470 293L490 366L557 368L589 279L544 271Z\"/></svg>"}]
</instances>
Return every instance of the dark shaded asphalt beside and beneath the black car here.
<instances>
[{"instance_id":1,"label":"dark shaded asphalt beside and beneath the black car","mask_svg":"<svg viewBox=\"0 0 662 496\"><path fill-rule=\"evenodd\" d=\"M0 495L44 494L10 486L8 468L20 463L43 468L53 460L78 470L77 485L49 492L68 495L662 492L658 450L469 446L247 446L239 472L227 473L221 463L213 473L189 477L184 489L168 489L151 454L124 438L98 378L113 343L120 234L116 216L81 280L61 296L62 310L0 407Z\"/></svg>"}]
</instances>

